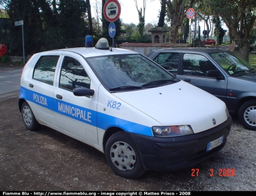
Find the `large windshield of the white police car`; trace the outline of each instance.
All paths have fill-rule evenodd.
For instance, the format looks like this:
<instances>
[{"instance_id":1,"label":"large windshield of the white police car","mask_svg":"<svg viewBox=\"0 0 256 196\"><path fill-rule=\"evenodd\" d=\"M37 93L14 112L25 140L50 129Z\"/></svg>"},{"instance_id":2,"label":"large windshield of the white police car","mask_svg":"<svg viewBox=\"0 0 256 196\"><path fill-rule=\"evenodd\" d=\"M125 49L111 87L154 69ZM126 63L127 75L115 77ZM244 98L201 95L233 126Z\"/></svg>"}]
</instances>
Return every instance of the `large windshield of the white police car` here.
<instances>
[{"instance_id":1,"label":"large windshield of the white police car","mask_svg":"<svg viewBox=\"0 0 256 196\"><path fill-rule=\"evenodd\" d=\"M132 91L179 81L141 54L90 57L86 61L109 91Z\"/></svg>"}]
</instances>

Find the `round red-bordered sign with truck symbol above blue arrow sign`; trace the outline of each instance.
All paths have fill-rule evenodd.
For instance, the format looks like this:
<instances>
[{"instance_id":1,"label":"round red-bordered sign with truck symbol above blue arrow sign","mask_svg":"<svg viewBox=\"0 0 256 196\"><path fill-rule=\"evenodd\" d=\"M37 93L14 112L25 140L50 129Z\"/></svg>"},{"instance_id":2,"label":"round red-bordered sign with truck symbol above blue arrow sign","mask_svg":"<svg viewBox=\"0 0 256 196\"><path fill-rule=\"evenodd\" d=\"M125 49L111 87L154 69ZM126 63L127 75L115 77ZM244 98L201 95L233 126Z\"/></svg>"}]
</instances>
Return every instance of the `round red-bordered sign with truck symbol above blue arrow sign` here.
<instances>
[{"instance_id":1,"label":"round red-bordered sign with truck symbol above blue arrow sign","mask_svg":"<svg viewBox=\"0 0 256 196\"><path fill-rule=\"evenodd\" d=\"M117 0L108 0L104 4L104 17L109 22L115 22L121 14L121 6Z\"/></svg>"}]
</instances>

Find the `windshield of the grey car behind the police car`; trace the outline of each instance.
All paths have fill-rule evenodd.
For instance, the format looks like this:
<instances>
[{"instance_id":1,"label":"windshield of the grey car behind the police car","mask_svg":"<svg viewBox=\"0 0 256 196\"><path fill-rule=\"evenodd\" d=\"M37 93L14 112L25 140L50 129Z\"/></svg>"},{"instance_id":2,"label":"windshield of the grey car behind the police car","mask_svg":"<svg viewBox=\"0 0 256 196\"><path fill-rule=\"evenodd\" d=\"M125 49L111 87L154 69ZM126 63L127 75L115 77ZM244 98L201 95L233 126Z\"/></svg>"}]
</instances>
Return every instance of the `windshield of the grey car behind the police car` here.
<instances>
[{"instance_id":1,"label":"windshield of the grey car behind the police car","mask_svg":"<svg viewBox=\"0 0 256 196\"><path fill-rule=\"evenodd\" d=\"M237 56L234 52L214 52L210 55L229 75L238 76L249 72L256 72L255 67L244 61L244 59Z\"/></svg>"}]
</instances>

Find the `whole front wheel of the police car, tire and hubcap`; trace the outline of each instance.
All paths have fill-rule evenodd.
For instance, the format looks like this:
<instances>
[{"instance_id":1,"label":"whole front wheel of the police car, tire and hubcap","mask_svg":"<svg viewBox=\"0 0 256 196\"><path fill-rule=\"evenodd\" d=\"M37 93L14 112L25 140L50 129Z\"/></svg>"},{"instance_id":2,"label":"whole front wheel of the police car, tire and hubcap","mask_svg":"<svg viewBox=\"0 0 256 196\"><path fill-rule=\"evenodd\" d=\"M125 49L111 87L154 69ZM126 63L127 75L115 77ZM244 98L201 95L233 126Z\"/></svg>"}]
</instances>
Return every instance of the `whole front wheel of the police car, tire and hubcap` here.
<instances>
[{"instance_id":1,"label":"whole front wheel of the police car, tire and hubcap","mask_svg":"<svg viewBox=\"0 0 256 196\"><path fill-rule=\"evenodd\" d=\"M118 176L134 179L145 173L140 152L125 132L116 132L109 137L105 155L108 165Z\"/></svg>"}]
</instances>

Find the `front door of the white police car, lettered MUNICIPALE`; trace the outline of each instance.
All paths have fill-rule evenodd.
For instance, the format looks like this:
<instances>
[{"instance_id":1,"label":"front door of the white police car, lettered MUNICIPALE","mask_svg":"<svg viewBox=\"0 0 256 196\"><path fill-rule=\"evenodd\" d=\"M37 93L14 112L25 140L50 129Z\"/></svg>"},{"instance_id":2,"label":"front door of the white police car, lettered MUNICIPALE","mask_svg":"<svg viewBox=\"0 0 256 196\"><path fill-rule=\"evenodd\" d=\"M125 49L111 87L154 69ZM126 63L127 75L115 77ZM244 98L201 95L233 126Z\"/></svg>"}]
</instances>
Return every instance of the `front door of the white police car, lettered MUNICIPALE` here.
<instances>
[{"instance_id":1,"label":"front door of the white police car, lettered MUNICIPALE","mask_svg":"<svg viewBox=\"0 0 256 196\"><path fill-rule=\"evenodd\" d=\"M74 87L98 89L84 69L88 64L83 57L63 52L58 70L58 83L54 89L54 110L58 130L86 144L95 146L97 137L97 94L75 96Z\"/></svg>"}]
</instances>

